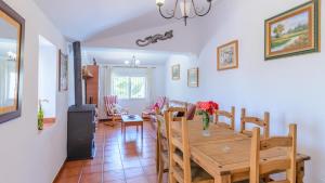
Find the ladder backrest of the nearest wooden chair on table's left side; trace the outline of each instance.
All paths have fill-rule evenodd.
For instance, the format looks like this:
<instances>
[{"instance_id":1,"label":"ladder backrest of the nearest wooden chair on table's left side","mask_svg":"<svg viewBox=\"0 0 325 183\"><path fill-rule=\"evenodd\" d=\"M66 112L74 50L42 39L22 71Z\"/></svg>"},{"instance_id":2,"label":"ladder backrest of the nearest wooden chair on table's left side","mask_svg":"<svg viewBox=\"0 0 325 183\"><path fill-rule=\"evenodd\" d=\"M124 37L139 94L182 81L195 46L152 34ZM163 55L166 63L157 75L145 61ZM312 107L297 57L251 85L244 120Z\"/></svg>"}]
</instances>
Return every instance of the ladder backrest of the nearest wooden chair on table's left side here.
<instances>
[{"instance_id":1,"label":"ladder backrest of the nearest wooden chair on table's left side","mask_svg":"<svg viewBox=\"0 0 325 183\"><path fill-rule=\"evenodd\" d=\"M168 109L169 117L169 178L170 182L192 182L191 160L188 143L188 122L185 117L174 118L174 113L186 112L186 108L171 107ZM179 121L181 119L181 121ZM180 153L178 153L179 149Z\"/></svg>"}]
</instances>

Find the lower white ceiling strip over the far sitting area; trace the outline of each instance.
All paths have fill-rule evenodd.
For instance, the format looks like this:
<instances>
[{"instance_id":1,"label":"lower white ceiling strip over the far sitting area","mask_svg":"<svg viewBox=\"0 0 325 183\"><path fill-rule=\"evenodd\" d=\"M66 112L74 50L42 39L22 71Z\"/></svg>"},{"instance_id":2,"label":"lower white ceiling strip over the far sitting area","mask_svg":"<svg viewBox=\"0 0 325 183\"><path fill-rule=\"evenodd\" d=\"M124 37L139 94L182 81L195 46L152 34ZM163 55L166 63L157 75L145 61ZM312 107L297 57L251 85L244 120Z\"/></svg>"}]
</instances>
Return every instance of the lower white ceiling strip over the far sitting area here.
<instances>
[{"instance_id":1,"label":"lower white ceiling strip over the far sitting area","mask_svg":"<svg viewBox=\"0 0 325 183\"><path fill-rule=\"evenodd\" d=\"M122 65L125 61L131 61L133 55L136 60L140 60L141 65L164 65L171 53L144 50L86 48L82 50L82 62L91 63L92 60L95 58L99 64Z\"/></svg>"}]
</instances>

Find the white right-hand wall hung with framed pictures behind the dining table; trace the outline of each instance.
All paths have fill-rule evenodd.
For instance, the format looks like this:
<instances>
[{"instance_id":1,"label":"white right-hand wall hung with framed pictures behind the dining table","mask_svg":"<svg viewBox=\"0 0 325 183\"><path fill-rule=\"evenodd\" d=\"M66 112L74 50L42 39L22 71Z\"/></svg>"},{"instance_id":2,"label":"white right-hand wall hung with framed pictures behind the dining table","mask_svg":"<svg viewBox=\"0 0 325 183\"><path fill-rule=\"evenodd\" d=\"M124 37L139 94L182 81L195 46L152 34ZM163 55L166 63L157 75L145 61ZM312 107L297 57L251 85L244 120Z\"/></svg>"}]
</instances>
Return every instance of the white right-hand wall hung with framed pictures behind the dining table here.
<instances>
[{"instance_id":1,"label":"white right-hand wall hung with framed pictures behind the dining table","mask_svg":"<svg viewBox=\"0 0 325 183\"><path fill-rule=\"evenodd\" d=\"M221 108L239 108L251 115L271 113L271 134L285 134L298 123L298 148L310 155L306 182L325 180L325 52L264 61L264 19L306 0L220 0L212 13L202 18L199 32L205 44L197 60L171 57L167 64L166 93L172 99L196 102L214 100ZM325 3L322 4L325 11ZM322 16L324 17L324 16ZM324 32L324 18L322 32ZM238 39L239 68L217 71L217 47ZM324 45L324 37L322 44ZM181 63L181 80L172 81L170 66ZM198 89L186 87L186 69L199 67ZM323 181L324 182L324 181Z\"/></svg>"}]
</instances>

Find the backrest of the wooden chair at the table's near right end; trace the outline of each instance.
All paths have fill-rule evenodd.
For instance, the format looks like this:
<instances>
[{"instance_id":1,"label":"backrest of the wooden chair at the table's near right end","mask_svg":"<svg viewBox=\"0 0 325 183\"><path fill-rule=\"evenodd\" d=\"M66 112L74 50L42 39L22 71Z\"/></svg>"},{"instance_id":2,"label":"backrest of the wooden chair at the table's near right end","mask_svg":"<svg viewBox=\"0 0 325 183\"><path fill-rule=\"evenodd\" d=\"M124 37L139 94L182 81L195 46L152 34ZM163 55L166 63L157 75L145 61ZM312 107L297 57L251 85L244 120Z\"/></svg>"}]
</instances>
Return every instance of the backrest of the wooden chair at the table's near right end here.
<instances>
[{"instance_id":1,"label":"backrest of the wooden chair at the table's near right end","mask_svg":"<svg viewBox=\"0 0 325 183\"><path fill-rule=\"evenodd\" d=\"M288 147L286 158L260 161L260 152L274 147ZM259 183L261 174L286 171L286 180L272 183L296 183L297 125L290 125L288 136L260 139L260 129L255 128L250 152L250 183Z\"/></svg>"}]
</instances>

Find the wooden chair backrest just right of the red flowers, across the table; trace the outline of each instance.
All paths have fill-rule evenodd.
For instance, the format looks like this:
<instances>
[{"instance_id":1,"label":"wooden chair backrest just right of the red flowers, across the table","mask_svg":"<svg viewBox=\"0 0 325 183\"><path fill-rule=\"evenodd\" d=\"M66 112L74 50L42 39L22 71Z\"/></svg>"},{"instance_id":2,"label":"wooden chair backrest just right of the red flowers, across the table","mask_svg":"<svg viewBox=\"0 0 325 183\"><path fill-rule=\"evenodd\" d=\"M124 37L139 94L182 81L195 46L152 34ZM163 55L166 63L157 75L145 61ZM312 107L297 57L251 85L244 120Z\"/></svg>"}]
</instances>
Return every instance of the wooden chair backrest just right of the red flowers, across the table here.
<instances>
[{"instance_id":1,"label":"wooden chair backrest just right of the red flowers, across the table","mask_svg":"<svg viewBox=\"0 0 325 183\"><path fill-rule=\"evenodd\" d=\"M226 123L225 121L220 121L219 117L224 117L230 121L230 125ZM230 128L232 130L235 129L235 107L232 107L231 112L226 112L226 110L216 110L214 113L214 122L217 125Z\"/></svg>"}]
</instances>

